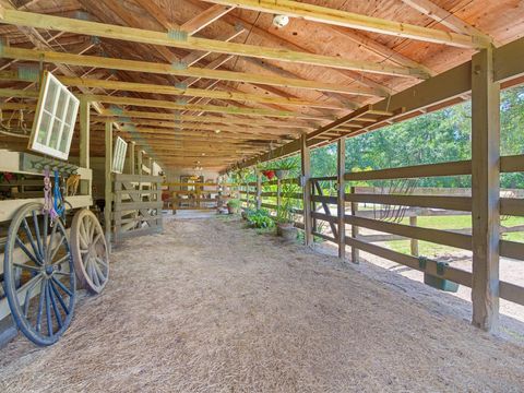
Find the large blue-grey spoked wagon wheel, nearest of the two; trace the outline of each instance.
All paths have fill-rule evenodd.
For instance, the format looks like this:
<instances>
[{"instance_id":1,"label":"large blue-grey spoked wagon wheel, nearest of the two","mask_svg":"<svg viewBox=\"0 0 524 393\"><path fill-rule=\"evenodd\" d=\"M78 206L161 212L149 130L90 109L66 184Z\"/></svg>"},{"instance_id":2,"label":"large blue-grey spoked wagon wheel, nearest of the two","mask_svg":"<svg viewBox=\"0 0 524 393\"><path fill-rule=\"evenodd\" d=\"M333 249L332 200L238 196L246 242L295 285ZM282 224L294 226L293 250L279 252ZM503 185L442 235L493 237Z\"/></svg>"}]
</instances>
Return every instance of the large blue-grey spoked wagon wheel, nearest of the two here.
<instances>
[{"instance_id":1,"label":"large blue-grey spoked wagon wheel, nearest of the two","mask_svg":"<svg viewBox=\"0 0 524 393\"><path fill-rule=\"evenodd\" d=\"M75 277L66 228L43 213L41 203L22 206L9 226L3 259L5 296L24 335L37 345L60 338L73 318Z\"/></svg>"}]
</instances>

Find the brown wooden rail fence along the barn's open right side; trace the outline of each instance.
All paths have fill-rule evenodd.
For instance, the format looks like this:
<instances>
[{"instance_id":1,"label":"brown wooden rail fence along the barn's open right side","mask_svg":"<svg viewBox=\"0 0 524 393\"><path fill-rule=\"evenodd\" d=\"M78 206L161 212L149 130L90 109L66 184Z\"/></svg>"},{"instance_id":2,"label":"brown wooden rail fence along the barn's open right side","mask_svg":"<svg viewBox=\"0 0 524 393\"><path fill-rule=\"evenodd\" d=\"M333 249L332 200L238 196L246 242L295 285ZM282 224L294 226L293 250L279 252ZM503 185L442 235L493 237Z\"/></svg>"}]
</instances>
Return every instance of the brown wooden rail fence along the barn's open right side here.
<instances>
[{"instance_id":1,"label":"brown wooden rail fence along the barn's open right side","mask_svg":"<svg viewBox=\"0 0 524 393\"><path fill-rule=\"evenodd\" d=\"M501 157L501 174L516 171L524 171L524 155ZM296 226L301 229L311 228L305 234L307 243L308 238L312 242L314 237L320 237L337 245L340 255L343 257L346 246L349 246L350 260L355 263L358 263L359 251L364 251L472 288L472 272L418 255L418 241L473 251L472 229L443 230L417 225L417 217L421 216L471 216L473 209L471 189L356 186L377 180L392 183L404 181L406 184L406 179L471 175L472 162L461 160L346 172L343 177L309 179L301 177L262 182L259 176L257 182L240 187L239 193L245 206L265 207L275 212L281 203L283 186L303 183L300 192L290 198L296 199L300 206L296 212ZM502 222L499 221L500 233L522 231L524 229L522 226L507 227L502 223L505 217L524 216L524 191L501 190L500 195L499 211L502 217ZM303 209L305 205L307 209ZM306 216L305 211L308 212ZM404 218L409 219L408 225ZM307 221L309 223L306 223ZM380 235L365 235L362 231L377 231ZM378 245L391 240L410 240L410 253ZM500 239L499 255L524 261L524 243ZM498 288L500 298L524 305L524 287L499 281Z\"/></svg>"}]
</instances>

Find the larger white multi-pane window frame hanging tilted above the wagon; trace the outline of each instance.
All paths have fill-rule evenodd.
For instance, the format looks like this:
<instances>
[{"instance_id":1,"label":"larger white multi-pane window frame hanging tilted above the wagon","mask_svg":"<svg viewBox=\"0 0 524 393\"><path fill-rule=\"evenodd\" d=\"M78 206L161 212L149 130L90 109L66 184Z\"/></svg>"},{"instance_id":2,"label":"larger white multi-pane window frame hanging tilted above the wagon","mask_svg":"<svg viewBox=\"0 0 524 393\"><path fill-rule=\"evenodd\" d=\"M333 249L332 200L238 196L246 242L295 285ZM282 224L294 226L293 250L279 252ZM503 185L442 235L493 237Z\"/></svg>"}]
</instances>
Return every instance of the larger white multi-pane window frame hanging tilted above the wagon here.
<instances>
[{"instance_id":1,"label":"larger white multi-pane window frame hanging tilted above the wagon","mask_svg":"<svg viewBox=\"0 0 524 393\"><path fill-rule=\"evenodd\" d=\"M49 86L56 86L55 97L52 97L52 108L49 111L46 108L46 99L48 99ZM58 103L60 97L66 97L64 107L61 108L62 115L57 116ZM70 107L70 104L72 106ZM38 105L36 107L35 120L33 121L33 129L31 132L29 145L28 148L35 152L44 153L46 155L68 159L69 151L71 148L71 141L73 140L74 126L76 122L76 116L79 114L80 100L71 93L67 86L64 86L60 81L53 76L50 72L45 71L41 78L40 93L38 96ZM50 120L47 130L41 130L41 120L44 115L47 115ZM68 123L68 121L70 123ZM56 145L51 146L51 136L55 123L59 122L59 136L56 141ZM45 143L38 142L38 136L44 133ZM60 150L62 144L62 138L67 138L64 151Z\"/></svg>"}]
</instances>

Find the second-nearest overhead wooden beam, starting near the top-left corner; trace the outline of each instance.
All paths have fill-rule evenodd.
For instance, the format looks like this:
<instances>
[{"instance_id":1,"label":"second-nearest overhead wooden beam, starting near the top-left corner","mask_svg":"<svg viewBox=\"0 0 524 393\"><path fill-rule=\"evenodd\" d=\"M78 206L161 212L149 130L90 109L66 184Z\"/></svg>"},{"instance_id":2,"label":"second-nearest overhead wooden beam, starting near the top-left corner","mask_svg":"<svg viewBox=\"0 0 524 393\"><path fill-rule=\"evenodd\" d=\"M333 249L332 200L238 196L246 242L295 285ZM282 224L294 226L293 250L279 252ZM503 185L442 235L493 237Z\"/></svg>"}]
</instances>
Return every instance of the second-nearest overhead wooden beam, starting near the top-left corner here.
<instances>
[{"instance_id":1,"label":"second-nearest overhead wooden beam, starting near the top-left corner","mask_svg":"<svg viewBox=\"0 0 524 393\"><path fill-rule=\"evenodd\" d=\"M180 29L163 33L91 21L73 20L48 14L9 10L4 8L0 9L0 22L16 26L69 32L104 38L121 39L131 43L160 45L187 50L203 50L210 52L247 56L276 61L330 67L342 70L354 70L386 75L415 76L421 79L428 78L426 73L412 68L348 60L342 57L298 52L282 48L270 48L246 44L225 43L207 38L196 38Z\"/></svg>"}]
</instances>

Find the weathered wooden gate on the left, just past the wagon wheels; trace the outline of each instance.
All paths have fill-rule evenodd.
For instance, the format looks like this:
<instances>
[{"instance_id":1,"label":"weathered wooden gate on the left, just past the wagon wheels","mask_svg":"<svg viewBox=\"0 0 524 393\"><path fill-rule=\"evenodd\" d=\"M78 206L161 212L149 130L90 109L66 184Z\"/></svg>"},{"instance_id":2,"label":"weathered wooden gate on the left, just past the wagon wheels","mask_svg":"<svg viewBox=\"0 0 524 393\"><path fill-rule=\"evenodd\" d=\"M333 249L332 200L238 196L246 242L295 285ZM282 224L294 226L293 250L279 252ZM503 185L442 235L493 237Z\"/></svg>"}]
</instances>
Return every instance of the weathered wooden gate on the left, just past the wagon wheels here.
<instances>
[{"instance_id":1,"label":"weathered wooden gate on the left, just past the wagon wheels","mask_svg":"<svg viewBox=\"0 0 524 393\"><path fill-rule=\"evenodd\" d=\"M115 241L162 231L162 176L114 176Z\"/></svg>"}]
</instances>

